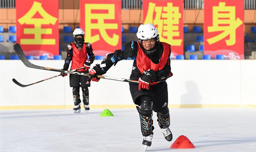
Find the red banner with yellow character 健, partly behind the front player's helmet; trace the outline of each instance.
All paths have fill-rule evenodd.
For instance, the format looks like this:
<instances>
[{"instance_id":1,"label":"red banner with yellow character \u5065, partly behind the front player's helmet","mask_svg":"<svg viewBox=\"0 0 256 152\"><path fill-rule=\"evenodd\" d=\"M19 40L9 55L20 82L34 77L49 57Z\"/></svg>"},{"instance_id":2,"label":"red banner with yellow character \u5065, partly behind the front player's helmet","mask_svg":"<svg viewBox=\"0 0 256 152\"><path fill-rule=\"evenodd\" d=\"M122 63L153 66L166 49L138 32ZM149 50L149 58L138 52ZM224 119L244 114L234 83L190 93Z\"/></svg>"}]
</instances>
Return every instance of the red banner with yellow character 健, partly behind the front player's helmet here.
<instances>
[{"instance_id":1,"label":"red banner with yellow character \u5065, partly behind the front player's helmet","mask_svg":"<svg viewBox=\"0 0 256 152\"><path fill-rule=\"evenodd\" d=\"M171 57L183 55L183 0L143 0L143 23L152 23L161 42L171 44Z\"/></svg>"}]
</instances>

